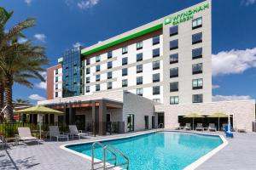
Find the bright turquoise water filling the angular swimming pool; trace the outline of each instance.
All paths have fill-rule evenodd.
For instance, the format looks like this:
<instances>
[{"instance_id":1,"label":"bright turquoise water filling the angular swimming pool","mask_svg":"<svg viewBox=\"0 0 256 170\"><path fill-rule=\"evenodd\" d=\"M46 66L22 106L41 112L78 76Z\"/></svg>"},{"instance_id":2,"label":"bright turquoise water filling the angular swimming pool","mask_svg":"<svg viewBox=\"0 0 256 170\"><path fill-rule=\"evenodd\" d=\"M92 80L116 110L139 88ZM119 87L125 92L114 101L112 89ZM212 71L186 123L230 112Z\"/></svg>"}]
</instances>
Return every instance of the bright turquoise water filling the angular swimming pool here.
<instances>
[{"instance_id":1,"label":"bright turquoise water filling the angular swimming pool","mask_svg":"<svg viewBox=\"0 0 256 170\"><path fill-rule=\"evenodd\" d=\"M104 145L113 144L125 153L129 157L131 170L183 169L222 143L218 136L175 132L149 133L102 142ZM91 156L91 144L69 145L67 148ZM102 160L102 148L96 147L95 155ZM107 154L107 157L112 156ZM124 161L118 156L118 163Z\"/></svg>"}]
</instances>

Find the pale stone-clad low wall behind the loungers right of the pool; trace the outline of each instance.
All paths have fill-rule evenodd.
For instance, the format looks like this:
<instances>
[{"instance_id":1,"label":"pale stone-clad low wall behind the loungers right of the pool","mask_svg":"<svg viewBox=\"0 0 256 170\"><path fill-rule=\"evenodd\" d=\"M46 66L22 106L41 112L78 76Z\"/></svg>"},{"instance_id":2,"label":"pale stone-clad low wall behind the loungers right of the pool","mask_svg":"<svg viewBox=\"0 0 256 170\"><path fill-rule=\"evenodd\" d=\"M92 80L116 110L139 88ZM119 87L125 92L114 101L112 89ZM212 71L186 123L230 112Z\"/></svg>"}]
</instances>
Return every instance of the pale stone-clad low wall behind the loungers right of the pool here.
<instances>
[{"instance_id":1,"label":"pale stone-clad low wall behind the loungers right of the pool","mask_svg":"<svg viewBox=\"0 0 256 170\"><path fill-rule=\"evenodd\" d=\"M184 105L155 105L156 112L165 112L166 128L175 128L179 124L177 116L198 113L211 115L213 113L225 113L234 115L234 128L246 128L247 132L252 132L252 122L255 121L255 100L243 101L221 101L203 104Z\"/></svg>"}]
</instances>

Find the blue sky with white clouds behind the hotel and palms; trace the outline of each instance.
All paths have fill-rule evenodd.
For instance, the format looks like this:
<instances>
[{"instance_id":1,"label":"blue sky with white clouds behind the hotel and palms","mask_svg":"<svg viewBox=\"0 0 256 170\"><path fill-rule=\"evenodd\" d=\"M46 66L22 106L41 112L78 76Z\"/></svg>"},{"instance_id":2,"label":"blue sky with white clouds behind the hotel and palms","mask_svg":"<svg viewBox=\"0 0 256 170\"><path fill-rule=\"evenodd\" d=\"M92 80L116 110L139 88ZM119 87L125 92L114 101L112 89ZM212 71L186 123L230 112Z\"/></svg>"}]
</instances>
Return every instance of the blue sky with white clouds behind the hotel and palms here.
<instances>
[{"instance_id":1,"label":"blue sky with white clouds behind the hotel and palms","mask_svg":"<svg viewBox=\"0 0 256 170\"><path fill-rule=\"evenodd\" d=\"M47 48L50 65L74 44L90 46L172 14L202 0L2 0L14 10L8 26L27 17L37 26L26 36ZM212 94L214 100L256 99L256 0L212 0ZM22 41L22 39L20 39ZM35 103L45 84L14 87L14 99Z\"/></svg>"}]
</instances>

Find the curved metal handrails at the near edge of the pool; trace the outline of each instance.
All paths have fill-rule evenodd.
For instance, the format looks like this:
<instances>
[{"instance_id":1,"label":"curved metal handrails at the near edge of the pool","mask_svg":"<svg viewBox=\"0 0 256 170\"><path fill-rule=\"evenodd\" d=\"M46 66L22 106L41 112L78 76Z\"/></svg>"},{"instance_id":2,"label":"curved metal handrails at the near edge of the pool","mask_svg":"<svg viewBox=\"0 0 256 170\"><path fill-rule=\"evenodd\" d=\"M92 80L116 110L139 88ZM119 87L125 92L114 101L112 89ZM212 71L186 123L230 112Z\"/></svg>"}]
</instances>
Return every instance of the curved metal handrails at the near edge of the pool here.
<instances>
[{"instance_id":1,"label":"curved metal handrails at the near edge of the pool","mask_svg":"<svg viewBox=\"0 0 256 170\"><path fill-rule=\"evenodd\" d=\"M103 161L97 161L95 162L95 145L99 145L100 147L102 147L103 149ZM111 150L112 149L112 150ZM107 151L113 156L113 158L110 158L110 159L107 159ZM119 163L117 164L116 162L116 153L118 153L120 156L122 156L124 159L125 159L125 162L124 163ZM107 165L107 161L114 161L113 165ZM103 167L96 167L96 165L98 164L102 164L103 163ZM91 150L91 169L92 170L95 170L95 169L100 169L100 168L103 168L104 170L105 169L111 169L113 167L119 167L119 166L122 166L122 165L126 165L126 169L129 169L129 159L127 156L125 156L125 154L123 154L120 150L116 149L112 144L107 144L107 145L103 145L102 143L100 142L94 142L92 144L92 150Z\"/></svg>"}]
</instances>

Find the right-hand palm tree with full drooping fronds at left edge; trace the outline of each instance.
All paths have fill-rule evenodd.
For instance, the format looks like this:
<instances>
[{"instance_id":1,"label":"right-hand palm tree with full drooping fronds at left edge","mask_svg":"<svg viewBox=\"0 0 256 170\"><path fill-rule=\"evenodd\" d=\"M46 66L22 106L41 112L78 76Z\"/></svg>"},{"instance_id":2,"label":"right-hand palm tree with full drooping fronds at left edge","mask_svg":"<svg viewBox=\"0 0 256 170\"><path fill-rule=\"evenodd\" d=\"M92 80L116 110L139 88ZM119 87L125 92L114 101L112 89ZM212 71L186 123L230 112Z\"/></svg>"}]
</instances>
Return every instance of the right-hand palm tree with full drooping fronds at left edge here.
<instances>
[{"instance_id":1,"label":"right-hand palm tree with full drooping fronds at left edge","mask_svg":"<svg viewBox=\"0 0 256 170\"><path fill-rule=\"evenodd\" d=\"M39 78L45 81L40 75L44 71L42 65L48 64L48 59L44 55L44 47L32 45L32 41L27 40L19 43L18 38L24 37L21 31L34 26L34 19L26 19L9 31L4 31L4 26L12 16L4 8L0 8L0 70L3 72L6 121L13 122L12 87L14 82L32 88L32 82L28 79Z\"/></svg>"}]
</instances>

